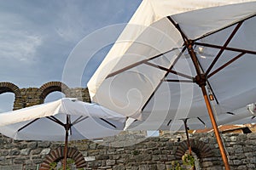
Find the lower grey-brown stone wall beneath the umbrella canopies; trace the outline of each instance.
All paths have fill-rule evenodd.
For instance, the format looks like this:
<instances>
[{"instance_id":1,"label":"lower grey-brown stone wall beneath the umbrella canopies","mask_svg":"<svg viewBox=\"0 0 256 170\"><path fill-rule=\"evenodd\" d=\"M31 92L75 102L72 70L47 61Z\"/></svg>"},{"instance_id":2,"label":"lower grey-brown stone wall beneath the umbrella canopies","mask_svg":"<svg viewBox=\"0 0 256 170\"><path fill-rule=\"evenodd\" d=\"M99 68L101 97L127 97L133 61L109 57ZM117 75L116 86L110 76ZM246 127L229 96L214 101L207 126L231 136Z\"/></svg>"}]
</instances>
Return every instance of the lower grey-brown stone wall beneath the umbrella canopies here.
<instances>
[{"instance_id":1,"label":"lower grey-brown stone wall beneath the umbrella canopies","mask_svg":"<svg viewBox=\"0 0 256 170\"><path fill-rule=\"evenodd\" d=\"M211 157L200 158L201 169L224 169L218 150L218 144L212 133L201 133L190 137L196 141L193 151L200 154L209 148ZM224 134L225 149L228 151L231 169L256 168L256 134ZM169 137L149 137L132 134L120 134L101 141L81 140L71 142L84 156L84 169L113 170L151 170L172 169L172 161L181 159L177 156L183 141L177 142L175 135ZM199 142L203 142L199 144ZM196 145L199 144L199 145ZM55 150L61 143L43 141L15 141L0 136L0 169L37 169L48 156L50 150Z\"/></svg>"}]
</instances>

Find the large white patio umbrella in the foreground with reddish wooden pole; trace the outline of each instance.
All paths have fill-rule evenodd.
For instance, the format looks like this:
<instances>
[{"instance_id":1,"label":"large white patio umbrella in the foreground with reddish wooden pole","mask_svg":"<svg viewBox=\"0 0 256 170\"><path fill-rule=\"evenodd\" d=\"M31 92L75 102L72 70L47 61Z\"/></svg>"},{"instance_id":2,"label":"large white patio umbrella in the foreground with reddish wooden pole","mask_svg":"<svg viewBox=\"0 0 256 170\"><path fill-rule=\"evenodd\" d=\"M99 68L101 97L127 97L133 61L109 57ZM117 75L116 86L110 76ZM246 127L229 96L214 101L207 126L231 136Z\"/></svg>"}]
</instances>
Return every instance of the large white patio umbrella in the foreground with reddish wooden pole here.
<instances>
[{"instance_id":1,"label":"large white patio umbrella in the foreground with reddish wooden pole","mask_svg":"<svg viewBox=\"0 0 256 170\"><path fill-rule=\"evenodd\" d=\"M88 82L92 101L153 128L210 117L230 169L211 105L230 116L256 101L255 14L250 0L143 0Z\"/></svg>"}]
</instances>

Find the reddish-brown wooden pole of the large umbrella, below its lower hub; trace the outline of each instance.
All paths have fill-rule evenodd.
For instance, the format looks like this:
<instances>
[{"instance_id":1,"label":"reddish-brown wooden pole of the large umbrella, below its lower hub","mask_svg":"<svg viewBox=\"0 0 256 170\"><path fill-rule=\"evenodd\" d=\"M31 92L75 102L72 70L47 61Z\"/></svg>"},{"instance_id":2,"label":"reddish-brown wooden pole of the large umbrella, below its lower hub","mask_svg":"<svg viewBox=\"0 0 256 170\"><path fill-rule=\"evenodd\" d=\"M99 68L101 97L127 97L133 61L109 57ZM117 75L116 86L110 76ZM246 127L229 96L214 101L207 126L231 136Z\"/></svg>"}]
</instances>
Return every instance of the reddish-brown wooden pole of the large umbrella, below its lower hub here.
<instances>
[{"instance_id":1,"label":"reddish-brown wooden pole of the large umbrella, below its lower hub","mask_svg":"<svg viewBox=\"0 0 256 170\"><path fill-rule=\"evenodd\" d=\"M211 106L210 101L209 101L208 96L207 96L206 87L201 86L201 91L202 91L202 94L204 96L204 99L205 99L205 102L206 102L206 105L207 105L207 111L208 111L208 114L209 114L211 122L212 122L212 127L213 127L213 130L214 130L214 133L215 133L215 136L216 136L216 139L217 139L217 143L218 143L218 148L220 150L220 154L221 154L222 159L224 161L224 167L225 167L225 169L230 170L230 164L229 164L226 152L224 150L224 144L222 143L222 140L221 140L219 132L218 132L218 126L217 126L217 123L215 121L215 118L214 118L214 115L213 115L213 112L212 112L212 106Z\"/></svg>"}]
</instances>

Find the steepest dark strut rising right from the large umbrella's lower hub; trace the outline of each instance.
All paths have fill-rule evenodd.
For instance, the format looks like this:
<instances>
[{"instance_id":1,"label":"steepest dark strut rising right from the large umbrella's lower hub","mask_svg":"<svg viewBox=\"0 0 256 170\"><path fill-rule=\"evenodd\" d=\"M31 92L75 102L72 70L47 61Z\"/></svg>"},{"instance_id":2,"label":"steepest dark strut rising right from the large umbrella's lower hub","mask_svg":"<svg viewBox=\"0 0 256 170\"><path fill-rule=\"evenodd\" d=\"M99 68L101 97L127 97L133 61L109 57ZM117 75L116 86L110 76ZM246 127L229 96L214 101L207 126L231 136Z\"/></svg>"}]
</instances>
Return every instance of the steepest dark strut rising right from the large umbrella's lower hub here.
<instances>
[{"instance_id":1,"label":"steepest dark strut rising right from the large umbrella's lower hub","mask_svg":"<svg viewBox=\"0 0 256 170\"><path fill-rule=\"evenodd\" d=\"M216 64L216 62L218 61L219 57L221 56L221 54L223 54L224 52L224 48L226 48L228 46L228 44L230 43L230 41L232 40L232 38L235 36L236 32L239 30L239 28L241 27L243 20L241 22L239 22L236 26L236 28L232 31L232 33L230 34L230 37L227 39L227 41L224 43L223 48L220 48L220 50L218 51L218 54L216 55L215 59L212 61L212 64L209 66L209 68L207 69L206 75L209 74L209 72L212 70L213 65Z\"/></svg>"}]
</instances>

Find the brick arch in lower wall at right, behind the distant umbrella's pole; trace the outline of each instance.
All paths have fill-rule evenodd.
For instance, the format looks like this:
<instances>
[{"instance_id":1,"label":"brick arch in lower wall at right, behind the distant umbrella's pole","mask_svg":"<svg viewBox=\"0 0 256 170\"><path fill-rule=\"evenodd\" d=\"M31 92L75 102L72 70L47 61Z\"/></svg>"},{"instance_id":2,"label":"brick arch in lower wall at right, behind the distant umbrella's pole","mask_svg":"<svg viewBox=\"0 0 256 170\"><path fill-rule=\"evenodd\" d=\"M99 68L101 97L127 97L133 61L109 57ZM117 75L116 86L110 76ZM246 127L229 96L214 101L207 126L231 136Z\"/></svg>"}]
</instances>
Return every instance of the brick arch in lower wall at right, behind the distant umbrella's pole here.
<instances>
[{"instance_id":1,"label":"brick arch in lower wall at right, behind the distant umbrella's pole","mask_svg":"<svg viewBox=\"0 0 256 170\"><path fill-rule=\"evenodd\" d=\"M191 150L195 153L198 158L207 158L212 157L212 145L206 144L201 140L195 140L195 139L189 139L189 144L191 146ZM181 159L182 156L186 153L188 150L188 144L187 141L184 140L179 144L176 150L176 158Z\"/></svg>"}]
</instances>

